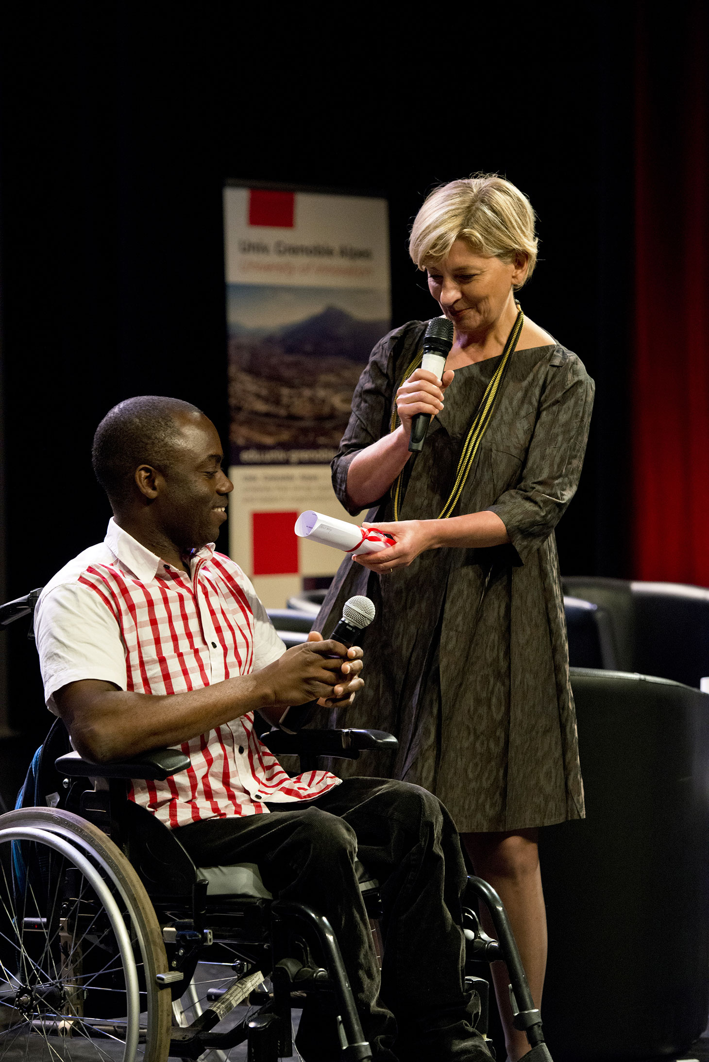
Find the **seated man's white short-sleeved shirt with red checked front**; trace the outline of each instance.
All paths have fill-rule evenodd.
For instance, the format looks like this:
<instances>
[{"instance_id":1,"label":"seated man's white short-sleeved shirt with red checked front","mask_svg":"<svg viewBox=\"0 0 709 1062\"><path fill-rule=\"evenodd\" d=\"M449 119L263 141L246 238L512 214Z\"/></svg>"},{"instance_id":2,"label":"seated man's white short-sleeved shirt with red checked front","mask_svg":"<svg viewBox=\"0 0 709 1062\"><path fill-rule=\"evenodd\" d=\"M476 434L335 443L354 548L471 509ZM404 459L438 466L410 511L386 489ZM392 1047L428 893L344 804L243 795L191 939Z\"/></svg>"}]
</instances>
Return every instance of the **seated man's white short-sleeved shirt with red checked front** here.
<instances>
[{"instance_id":1,"label":"seated man's white short-sleeved shirt with red checked front","mask_svg":"<svg viewBox=\"0 0 709 1062\"><path fill-rule=\"evenodd\" d=\"M45 700L102 679L140 693L178 693L265 667L286 651L241 568L201 549L191 576L113 519L45 586L35 610ZM146 710L150 710L146 707ZM254 732L253 714L175 747L191 760L167 782L132 783L131 798L166 825L267 812L266 801L312 800L338 785L327 771L290 778Z\"/></svg>"}]
</instances>

